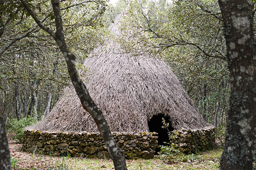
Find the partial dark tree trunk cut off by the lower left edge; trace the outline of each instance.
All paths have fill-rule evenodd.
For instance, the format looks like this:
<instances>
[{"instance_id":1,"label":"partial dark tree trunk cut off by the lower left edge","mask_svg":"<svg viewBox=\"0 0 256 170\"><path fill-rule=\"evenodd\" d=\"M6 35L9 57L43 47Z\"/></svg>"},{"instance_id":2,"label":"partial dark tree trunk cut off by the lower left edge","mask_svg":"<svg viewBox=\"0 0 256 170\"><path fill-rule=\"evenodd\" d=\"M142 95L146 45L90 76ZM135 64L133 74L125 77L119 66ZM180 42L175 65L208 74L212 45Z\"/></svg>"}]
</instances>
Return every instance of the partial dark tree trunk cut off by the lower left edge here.
<instances>
[{"instance_id":1,"label":"partial dark tree trunk cut off by the lower left edge","mask_svg":"<svg viewBox=\"0 0 256 170\"><path fill-rule=\"evenodd\" d=\"M6 135L3 113L3 101L0 96L0 169L11 170L10 149Z\"/></svg>"}]
</instances>

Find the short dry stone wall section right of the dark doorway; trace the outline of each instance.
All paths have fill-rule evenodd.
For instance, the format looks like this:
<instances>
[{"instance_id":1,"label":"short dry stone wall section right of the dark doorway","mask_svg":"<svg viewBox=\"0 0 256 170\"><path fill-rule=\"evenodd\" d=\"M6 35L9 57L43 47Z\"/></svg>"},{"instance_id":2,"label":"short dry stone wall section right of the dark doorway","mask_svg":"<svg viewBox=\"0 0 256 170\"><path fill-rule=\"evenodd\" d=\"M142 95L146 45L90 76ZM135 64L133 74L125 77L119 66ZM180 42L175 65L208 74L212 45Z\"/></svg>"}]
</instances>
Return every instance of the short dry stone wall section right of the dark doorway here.
<instances>
[{"instance_id":1,"label":"short dry stone wall section right of the dark doorway","mask_svg":"<svg viewBox=\"0 0 256 170\"><path fill-rule=\"evenodd\" d=\"M170 142L172 146L178 148L182 153L196 153L197 151L204 151L214 147L214 131L214 127L174 130L172 131Z\"/></svg>"}]
</instances>

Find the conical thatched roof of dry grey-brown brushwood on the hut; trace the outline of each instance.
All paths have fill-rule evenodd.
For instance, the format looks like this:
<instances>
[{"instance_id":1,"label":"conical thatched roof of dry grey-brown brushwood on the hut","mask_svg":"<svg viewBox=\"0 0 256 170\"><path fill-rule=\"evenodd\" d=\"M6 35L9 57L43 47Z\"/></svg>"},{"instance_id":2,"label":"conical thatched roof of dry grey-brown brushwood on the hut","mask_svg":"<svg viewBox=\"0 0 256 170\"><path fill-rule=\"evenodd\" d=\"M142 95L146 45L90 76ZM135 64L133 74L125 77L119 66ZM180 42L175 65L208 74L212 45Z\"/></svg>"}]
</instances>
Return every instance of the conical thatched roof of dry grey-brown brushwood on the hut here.
<instances>
[{"instance_id":1,"label":"conical thatched roof of dry grey-brown brushwood on the hut","mask_svg":"<svg viewBox=\"0 0 256 170\"><path fill-rule=\"evenodd\" d=\"M118 16L119 19L121 15ZM117 17L117 20L118 20ZM117 22L110 26L118 32ZM81 72L89 94L116 132L148 132L147 121L163 114L174 129L202 128L206 122L167 64L149 54L132 56L109 38L84 61ZM35 128L97 132L73 87L67 87L53 110Z\"/></svg>"}]
</instances>

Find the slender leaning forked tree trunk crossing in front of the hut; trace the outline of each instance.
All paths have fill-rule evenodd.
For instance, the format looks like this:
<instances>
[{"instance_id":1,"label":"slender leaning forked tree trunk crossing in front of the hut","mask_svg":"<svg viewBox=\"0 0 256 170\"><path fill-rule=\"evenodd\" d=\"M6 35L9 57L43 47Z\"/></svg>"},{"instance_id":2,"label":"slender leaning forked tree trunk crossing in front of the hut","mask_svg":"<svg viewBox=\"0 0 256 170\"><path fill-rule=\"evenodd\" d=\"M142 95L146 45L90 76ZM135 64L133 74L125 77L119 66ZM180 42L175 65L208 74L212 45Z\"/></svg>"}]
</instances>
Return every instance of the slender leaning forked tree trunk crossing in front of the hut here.
<instances>
[{"instance_id":1,"label":"slender leaning forked tree trunk crossing in front of the hut","mask_svg":"<svg viewBox=\"0 0 256 170\"><path fill-rule=\"evenodd\" d=\"M60 47L60 50L67 62L69 76L75 87L76 93L79 96L79 99L82 103L83 108L86 111L88 111L91 114L91 116L93 116L93 119L98 126L99 132L113 160L115 169L127 170L123 150L121 150L116 145L116 142L114 141L114 138L111 134L108 124L106 123L106 120L102 114L102 111L95 105L95 103L91 99L91 96L89 95L89 92L86 86L84 85L82 80L79 78L78 72L75 68L75 55L73 55L71 51L69 51L68 46L65 42L59 0L51 0L52 6L53 6L55 23L56 23L56 30L57 30L56 32L53 32L50 28L45 27L45 25L41 23L41 21L35 15L34 11L29 7L29 5L27 5L25 0L20 0L20 1L22 2L26 10L30 13L30 15L33 17L35 22L39 25L39 27L41 27L44 31L48 32Z\"/></svg>"}]
</instances>

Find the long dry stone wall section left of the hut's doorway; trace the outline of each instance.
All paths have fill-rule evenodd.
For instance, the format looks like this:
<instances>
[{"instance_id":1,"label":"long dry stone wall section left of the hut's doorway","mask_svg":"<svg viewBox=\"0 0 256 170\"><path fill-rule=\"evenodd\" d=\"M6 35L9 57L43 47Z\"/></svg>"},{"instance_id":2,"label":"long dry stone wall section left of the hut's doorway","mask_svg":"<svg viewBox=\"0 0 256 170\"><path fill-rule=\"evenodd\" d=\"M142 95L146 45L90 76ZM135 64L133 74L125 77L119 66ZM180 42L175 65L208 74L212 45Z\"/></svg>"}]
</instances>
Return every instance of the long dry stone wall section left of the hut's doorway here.
<instances>
[{"instance_id":1,"label":"long dry stone wall section left of the hut's doorway","mask_svg":"<svg viewBox=\"0 0 256 170\"><path fill-rule=\"evenodd\" d=\"M126 159L151 159L157 147L157 133L113 133ZM108 150L99 133L49 132L24 130L23 147L39 154L72 157L108 158Z\"/></svg>"}]
</instances>

